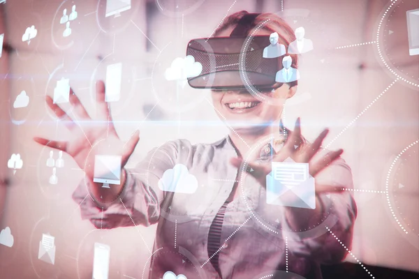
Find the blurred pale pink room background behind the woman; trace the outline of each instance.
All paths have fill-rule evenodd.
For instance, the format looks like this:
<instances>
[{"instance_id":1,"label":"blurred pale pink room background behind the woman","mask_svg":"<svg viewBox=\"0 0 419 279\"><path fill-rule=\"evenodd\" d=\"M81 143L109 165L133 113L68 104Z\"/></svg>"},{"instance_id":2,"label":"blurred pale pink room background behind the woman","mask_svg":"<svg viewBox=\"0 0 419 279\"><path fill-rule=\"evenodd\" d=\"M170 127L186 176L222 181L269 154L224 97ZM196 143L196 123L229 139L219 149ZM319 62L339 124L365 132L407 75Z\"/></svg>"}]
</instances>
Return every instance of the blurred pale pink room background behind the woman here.
<instances>
[{"instance_id":1,"label":"blurred pale pink room background behind the woman","mask_svg":"<svg viewBox=\"0 0 419 279\"><path fill-rule=\"evenodd\" d=\"M128 167L168 140L219 140L228 130L205 100L210 93L186 86L176 104L175 90L159 73L185 55L189 40L210 36L240 10L278 13L314 42L314 51L300 57L302 78L286 103L284 123L293 129L301 116L309 140L329 127L328 149L344 149L358 205L353 255L372 274L383 274L375 278L390 278L393 269L419 271L419 55L409 55L408 40L419 25L409 30L406 22L406 11L419 9L419 1L133 0L113 13L105 3L0 1L0 229L13 235L13 245L0 244L1 278L87 278L98 239L111 247L110 278L146 278L143 239L152 246L156 227L100 230L82 220L71 194L83 172L66 154L57 185L48 183L50 149L33 137L65 140L70 134L45 96L68 80L95 116L94 82L105 79L107 65L122 63L112 117L122 139L141 132ZM62 23L64 9L70 24ZM21 107L18 96L27 96ZM13 153L23 165L8 165ZM38 259L47 232L55 239L54 265ZM372 277L351 255L346 261L329 271Z\"/></svg>"}]
</instances>

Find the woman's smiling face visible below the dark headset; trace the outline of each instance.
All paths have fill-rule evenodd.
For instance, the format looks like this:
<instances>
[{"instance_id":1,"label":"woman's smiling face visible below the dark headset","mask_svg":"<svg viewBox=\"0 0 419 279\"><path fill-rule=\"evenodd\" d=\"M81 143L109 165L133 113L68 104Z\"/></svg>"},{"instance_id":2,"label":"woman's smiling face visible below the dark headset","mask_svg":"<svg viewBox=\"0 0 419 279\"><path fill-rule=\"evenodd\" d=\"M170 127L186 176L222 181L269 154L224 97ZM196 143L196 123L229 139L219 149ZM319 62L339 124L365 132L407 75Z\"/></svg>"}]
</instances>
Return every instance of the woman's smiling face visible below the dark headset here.
<instances>
[{"instance_id":1,"label":"woman's smiling face visible below the dark headset","mask_svg":"<svg viewBox=\"0 0 419 279\"><path fill-rule=\"evenodd\" d=\"M233 27L219 33L218 36L229 36ZM270 35L270 31L260 31L260 35ZM283 84L274 91L263 92L271 98L283 99L291 97L296 86L290 89L288 84ZM222 121L228 123L237 132L252 133L255 130L264 130L270 123L281 117L282 105L261 102L247 90L212 90L212 103ZM221 115L220 115L221 114Z\"/></svg>"}]
</instances>

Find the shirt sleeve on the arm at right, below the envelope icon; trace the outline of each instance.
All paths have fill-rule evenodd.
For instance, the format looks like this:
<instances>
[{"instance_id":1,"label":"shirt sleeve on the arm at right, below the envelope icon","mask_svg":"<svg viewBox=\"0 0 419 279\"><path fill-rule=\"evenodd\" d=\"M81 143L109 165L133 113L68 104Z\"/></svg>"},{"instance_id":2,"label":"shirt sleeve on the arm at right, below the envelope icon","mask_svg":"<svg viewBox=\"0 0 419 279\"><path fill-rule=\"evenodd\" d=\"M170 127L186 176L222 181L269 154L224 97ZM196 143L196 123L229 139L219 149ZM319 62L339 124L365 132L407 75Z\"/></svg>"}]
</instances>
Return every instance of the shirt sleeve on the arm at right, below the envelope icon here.
<instances>
[{"instance_id":1,"label":"shirt sleeve on the arm at right, below the envelope icon","mask_svg":"<svg viewBox=\"0 0 419 279\"><path fill-rule=\"evenodd\" d=\"M319 172L315 179L322 185L353 189L351 168L341 158ZM320 194L318 201L321 215L325 218L316 229L293 233L284 216L282 227L288 239L288 249L297 256L310 257L323 264L340 262L351 249L353 223L357 215L355 201L348 190ZM308 214L310 210L307 209Z\"/></svg>"}]
</instances>

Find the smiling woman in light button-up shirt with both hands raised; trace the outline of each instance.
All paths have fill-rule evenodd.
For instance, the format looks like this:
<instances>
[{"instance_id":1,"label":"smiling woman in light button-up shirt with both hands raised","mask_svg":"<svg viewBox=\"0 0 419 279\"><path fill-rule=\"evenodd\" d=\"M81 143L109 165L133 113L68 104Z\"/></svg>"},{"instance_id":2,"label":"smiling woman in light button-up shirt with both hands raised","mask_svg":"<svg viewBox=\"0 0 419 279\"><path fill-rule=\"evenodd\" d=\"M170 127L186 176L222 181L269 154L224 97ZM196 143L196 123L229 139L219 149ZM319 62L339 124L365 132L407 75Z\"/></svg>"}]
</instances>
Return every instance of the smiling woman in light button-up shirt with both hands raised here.
<instances>
[{"instance_id":1,"label":"smiling woman in light button-up shirt with both hands raised","mask_svg":"<svg viewBox=\"0 0 419 279\"><path fill-rule=\"evenodd\" d=\"M229 36L244 15L247 12L227 17L214 36ZM295 35L277 15L258 15L253 27L267 18L270 22L258 35L277 32L279 43L288 48ZM297 68L296 56L293 56L292 66ZM273 92L264 94L286 100L296 89L295 81L278 84ZM252 125L230 129L226 138L213 144L192 145L187 140L167 142L149 152L135 169L135 173L147 176L138 176L124 169L124 165L139 141L139 132L126 144L119 140L112 121L108 123L110 112L105 103L103 82L96 84L96 100L99 119L103 121L84 128L83 133L66 112L47 97L50 108L77 136L68 142L35 140L67 152L85 169L86 183L81 183L73 194L75 202L80 203L82 218L107 229L158 224L149 278L162 278L168 271L182 273L187 278L255 278L265 271L275 270L321 278L319 264L339 262L346 256L346 249L335 236L350 248L356 207L351 195L341 190L352 188L353 182L350 168L339 158L342 150L321 150L327 129L310 144L300 134L300 119L293 132L281 126L282 107L262 103L247 91L212 91L214 109L228 127L233 121ZM91 120L73 94L71 103L78 118ZM244 154L267 135L274 135L273 144L262 146L243 174ZM102 188L101 184L93 182L94 155L101 151L122 154L120 185ZM266 204L266 176L271 172L271 161L281 162L288 157L297 163L309 163L310 174L316 181L315 209ZM161 190L159 180L163 174L179 165L198 179L198 188L193 193ZM245 201L240 197L238 182L242 177L247 181L243 187L248 194ZM85 198L87 188L91 198ZM334 192L333 201L327 197L330 192ZM249 206L254 211L249 210ZM321 234L300 233L323 223L325 215L335 216L335 222L327 228L335 236L324 225L325 232ZM276 220L275 232L272 234L269 232L272 229L265 229L257 216ZM186 262L182 256L182 261L177 259L180 254L186 255Z\"/></svg>"}]
</instances>

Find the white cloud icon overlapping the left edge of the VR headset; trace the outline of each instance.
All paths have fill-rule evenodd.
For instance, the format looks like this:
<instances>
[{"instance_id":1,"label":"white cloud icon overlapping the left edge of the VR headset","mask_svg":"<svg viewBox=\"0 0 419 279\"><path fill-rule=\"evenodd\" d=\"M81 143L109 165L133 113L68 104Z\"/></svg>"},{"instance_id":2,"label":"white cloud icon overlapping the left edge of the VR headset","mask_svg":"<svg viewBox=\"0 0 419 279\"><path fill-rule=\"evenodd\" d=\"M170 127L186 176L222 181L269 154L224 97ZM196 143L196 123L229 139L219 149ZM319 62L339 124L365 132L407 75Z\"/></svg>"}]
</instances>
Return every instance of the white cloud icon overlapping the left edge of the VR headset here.
<instances>
[{"instance_id":1,"label":"white cloud icon overlapping the left edge of the VR headset","mask_svg":"<svg viewBox=\"0 0 419 279\"><path fill-rule=\"evenodd\" d=\"M196 62L192 55L185 58L177 57L172 61L170 68L166 69L166 80L178 80L186 82L188 77L196 77L203 71L203 64Z\"/></svg>"}]
</instances>

